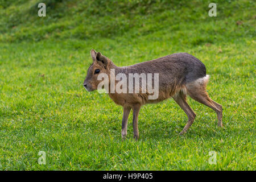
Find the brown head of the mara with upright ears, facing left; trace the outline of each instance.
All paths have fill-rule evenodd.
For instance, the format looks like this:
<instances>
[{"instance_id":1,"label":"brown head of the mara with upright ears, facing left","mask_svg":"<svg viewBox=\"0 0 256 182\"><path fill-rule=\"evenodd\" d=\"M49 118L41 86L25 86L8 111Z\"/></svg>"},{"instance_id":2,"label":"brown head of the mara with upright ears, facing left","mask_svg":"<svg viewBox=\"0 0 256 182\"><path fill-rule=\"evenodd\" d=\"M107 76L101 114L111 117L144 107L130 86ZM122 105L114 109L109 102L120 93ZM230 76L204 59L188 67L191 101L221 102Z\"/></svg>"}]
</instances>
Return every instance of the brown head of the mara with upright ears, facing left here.
<instances>
[{"instance_id":1,"label":"brown head of the mara with upright ears, facing left","mask_svg":"<svg viewBox=\"0 0 256 182\"><path fill-rule=\"evenodd\" d=\"M110 77L110 60L108 57L101 55L100 52L90 51L90 55L92 56L93 63L90 65L87 71L86 78L84 80L84 87L87 91L97 90L98 84L102 80L98 80L97 77L101 73L105 73Z\"/></svg>"}]
</instances>

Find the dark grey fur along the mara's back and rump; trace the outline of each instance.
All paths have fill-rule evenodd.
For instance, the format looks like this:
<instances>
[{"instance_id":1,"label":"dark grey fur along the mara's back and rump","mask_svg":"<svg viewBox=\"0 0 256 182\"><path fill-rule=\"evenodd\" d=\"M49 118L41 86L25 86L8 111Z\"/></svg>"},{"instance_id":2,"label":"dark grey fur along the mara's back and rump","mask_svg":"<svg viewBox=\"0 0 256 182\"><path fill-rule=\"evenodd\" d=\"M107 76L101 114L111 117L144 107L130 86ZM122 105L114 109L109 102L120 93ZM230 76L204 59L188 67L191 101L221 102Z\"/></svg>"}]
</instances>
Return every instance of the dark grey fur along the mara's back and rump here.
<instances>
[{"instance_id":1,"label":"dark grey fur along the mara's back and rump","mask_svg":"<svg viewBox=\"0 0 256 182\"><path fill-rule=\"evenodd\" d=\"M160 85L170 84L174 80L187 84L206 76L206 68L189 53L174 53L127 67L117 67L117 73L159 73Z\"/></svg>"}]
</instances>

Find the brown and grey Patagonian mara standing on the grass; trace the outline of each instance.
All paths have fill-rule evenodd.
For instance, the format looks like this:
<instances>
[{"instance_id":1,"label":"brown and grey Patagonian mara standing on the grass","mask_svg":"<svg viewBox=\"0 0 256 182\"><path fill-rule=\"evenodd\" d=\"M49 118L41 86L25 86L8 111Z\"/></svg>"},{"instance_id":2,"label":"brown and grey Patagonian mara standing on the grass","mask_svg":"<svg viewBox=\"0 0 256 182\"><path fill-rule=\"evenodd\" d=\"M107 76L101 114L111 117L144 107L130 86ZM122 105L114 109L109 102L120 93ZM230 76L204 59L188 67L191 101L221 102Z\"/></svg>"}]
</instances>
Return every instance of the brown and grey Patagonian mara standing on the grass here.
<instances>
[{"instance_id":1,"label":"brown and grey Patagonian mara standing on the grass","mask_svg":"<svg viewBox=\"0 0 256 182\"><path fill-rule=\"evenodd\" d=\"M141 106L157 103L170 97L174 98L188 116L188 123L180 133L184 134L196 117L196 114L186 101L187 94L194 100L216 111L218 126L222 126L222 107L209 98L205 90L209 76L206 75L204 64L196 57L188 53L176 53L128 67L117 67L108 57L101 55L100 52L96 53L93 49L91 56L93 64L90 65L84 81L84 86L88 91L96 90L101 82L101 80L97 80L98 75L94 73L96 69L100 69L100 73L106 73L109 78L110 69L115 69L115 75L118 73L124 73L125 75L129 73L152 73L153 75L154 73L159 73L159 97L156 100L148 100L148 96L151 95L148 90L146 90L146 93L110 93L110 90L108 90L108 94L115 104L123 106L123 138L127 135L127 119L131 109L133 109L134 138L137 139L139 138L138 114ZM154 80L154 76L152 79ZM115 84L117 82L115 81Z\"/></svg>"}]
</instances>

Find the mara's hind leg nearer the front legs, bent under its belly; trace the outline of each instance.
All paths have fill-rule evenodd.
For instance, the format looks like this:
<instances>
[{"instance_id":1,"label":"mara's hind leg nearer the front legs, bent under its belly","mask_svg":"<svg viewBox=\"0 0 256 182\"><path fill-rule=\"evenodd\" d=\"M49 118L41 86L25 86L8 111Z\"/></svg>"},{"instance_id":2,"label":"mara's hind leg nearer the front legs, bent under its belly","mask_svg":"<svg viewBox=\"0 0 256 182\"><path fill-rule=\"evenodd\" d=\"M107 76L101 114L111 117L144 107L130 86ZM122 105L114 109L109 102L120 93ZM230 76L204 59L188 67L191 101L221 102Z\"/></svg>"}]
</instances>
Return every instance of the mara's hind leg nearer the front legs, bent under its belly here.
<instances>
[{"instance_id":1,"label":"mara's hind leg nearer the front legs, bent under its belly","mask_svg":"<svg viewBox=\"0 0 256 182\"><path fill-rule=\"evenodd\" d=\"M182 134L186 133L187 130L189 129L189 127L192 125L192 123L196 117L196 114L191 109L191 107L188 105L188 102L186 100L186 95L183 92L177 93L173 98L177 102L177 104L181 107L181 109L183 109L188 116L187 125L180 132L180 135L182 135Z\"/></svg>"}]
</instances>

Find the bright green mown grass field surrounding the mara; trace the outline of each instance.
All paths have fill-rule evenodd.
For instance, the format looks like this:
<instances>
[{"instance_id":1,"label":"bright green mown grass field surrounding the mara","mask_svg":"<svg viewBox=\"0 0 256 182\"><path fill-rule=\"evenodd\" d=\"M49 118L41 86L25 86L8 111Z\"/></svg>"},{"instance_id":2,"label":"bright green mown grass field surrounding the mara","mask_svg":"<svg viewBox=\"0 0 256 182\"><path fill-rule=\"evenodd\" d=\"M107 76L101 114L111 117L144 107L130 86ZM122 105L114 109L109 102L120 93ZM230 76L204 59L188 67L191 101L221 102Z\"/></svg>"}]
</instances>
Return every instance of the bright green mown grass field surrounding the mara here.
<instances>
[{"instance_id":1,"label":"bright green mown grass field surrounding the mara","mask_svg":"<svg viewBox=\"0 0 256 182\"><path fill-rule=\"evenodd\" d=\"M255 1L215 1L216 17L210 2L0 1L0 169L255 170ZM118 66L196 56L224 129L188 98L197 117L179 136L187 115L166 100L143 106L137 142L130 114L122 141L122 107L82 86L92 48Z\"/></svg>"}]
</instances>

